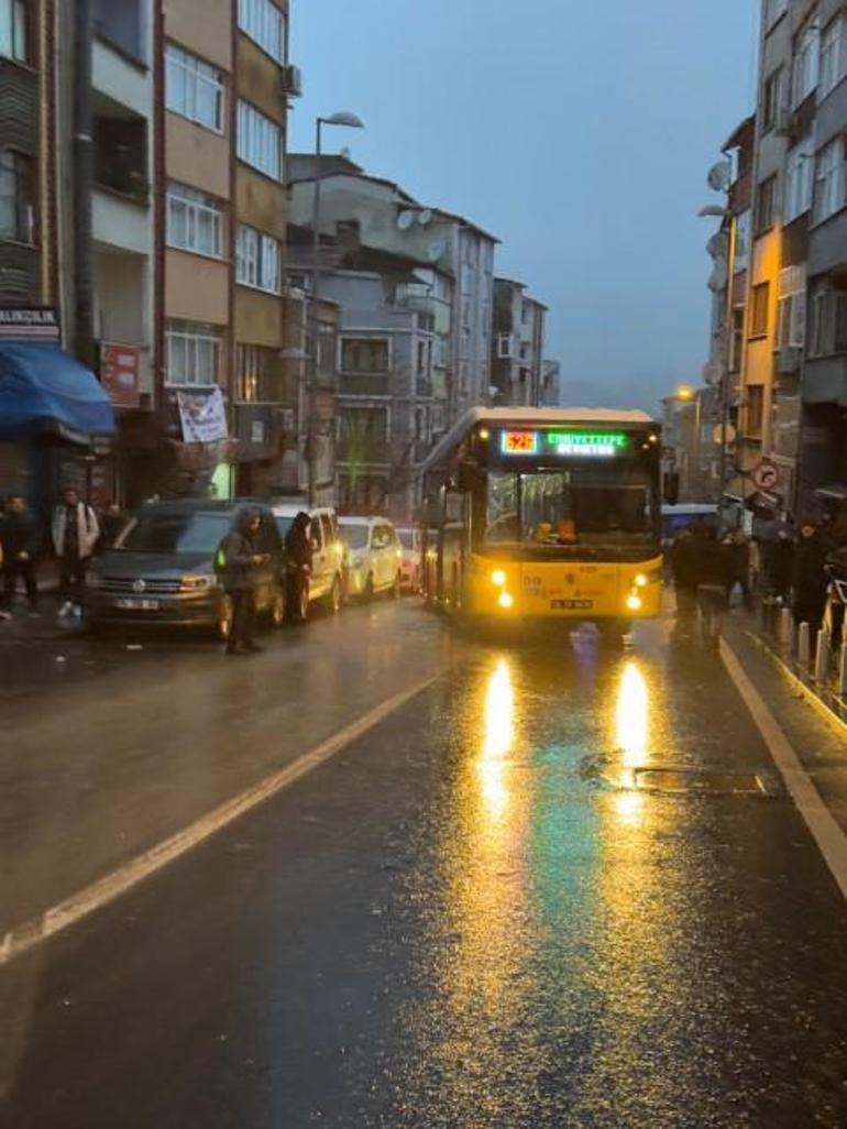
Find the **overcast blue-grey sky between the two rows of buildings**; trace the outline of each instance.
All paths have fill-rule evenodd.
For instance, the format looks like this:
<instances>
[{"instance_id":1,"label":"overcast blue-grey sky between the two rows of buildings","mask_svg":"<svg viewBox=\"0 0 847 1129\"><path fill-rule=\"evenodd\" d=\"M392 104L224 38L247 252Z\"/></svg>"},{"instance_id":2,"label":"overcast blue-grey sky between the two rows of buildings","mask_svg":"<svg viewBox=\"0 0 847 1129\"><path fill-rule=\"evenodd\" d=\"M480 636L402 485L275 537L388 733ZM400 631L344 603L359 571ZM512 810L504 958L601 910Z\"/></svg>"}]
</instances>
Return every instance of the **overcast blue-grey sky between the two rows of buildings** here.
<instances>
[{"instance_id":1,"label":"overcast blue-grey sky between the two rows of buildings","mask_svg":"<svg viewBox=\"0 0 847 1129\"><path fill-rule=\"evenodd\" d=\"M501 240L571 392L653 408L706 360L705 176L752 110L759 0L291 0L305 96L375 175ZM332 135L334 134L334 135ZM714 221L713 221L714 222Z\"/></svg>"}]
</instances>

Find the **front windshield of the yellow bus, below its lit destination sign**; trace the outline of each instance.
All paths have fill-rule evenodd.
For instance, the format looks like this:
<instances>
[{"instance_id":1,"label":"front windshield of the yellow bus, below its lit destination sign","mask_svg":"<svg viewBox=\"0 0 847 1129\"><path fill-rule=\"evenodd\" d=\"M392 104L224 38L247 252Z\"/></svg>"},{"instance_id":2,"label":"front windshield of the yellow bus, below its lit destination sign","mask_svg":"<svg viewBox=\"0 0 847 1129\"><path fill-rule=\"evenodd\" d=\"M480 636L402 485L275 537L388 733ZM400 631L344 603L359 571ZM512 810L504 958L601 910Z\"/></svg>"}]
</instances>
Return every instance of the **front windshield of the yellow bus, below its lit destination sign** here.
<instances>
[{"instance_id":1,"label":"front windshield of the yellow bus, below its lit destination sign","mask_svg":"<svg viewBox=\"0 0 847 1129\"><path fill-rule=\"evenodd\" d=\"M650 476L638 465L492 471L483 541L559 549L643 545L656 539L656 502Z\"/></svg>"}]
</instances>

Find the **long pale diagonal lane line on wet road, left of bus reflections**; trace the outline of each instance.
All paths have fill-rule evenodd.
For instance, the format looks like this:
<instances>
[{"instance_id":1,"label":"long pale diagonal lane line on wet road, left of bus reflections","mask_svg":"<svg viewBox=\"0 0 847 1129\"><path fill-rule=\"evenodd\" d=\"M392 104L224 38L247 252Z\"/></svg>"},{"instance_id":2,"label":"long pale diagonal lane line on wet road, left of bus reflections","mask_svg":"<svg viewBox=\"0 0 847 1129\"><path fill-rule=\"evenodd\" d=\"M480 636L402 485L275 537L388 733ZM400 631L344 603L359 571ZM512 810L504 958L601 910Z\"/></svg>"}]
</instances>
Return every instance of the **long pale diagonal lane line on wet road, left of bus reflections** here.
<instances>
[{"instance_id":1,"label":"long pale diagonal lane line on wet road, left of bus reflections","mask_svg":"<svg viewBox=\"0 0 847 1129\"><path fill-rule=\"evenodd\" d=\"M417 698L424 690L431 686L438 677L439 675L435 675L430 679L425 679L422 682L416 683L411 689L394 694L393 698L388 698L381 706L375 707L375 709L352 721L315 749L298 756L296 761L287 764L278 772L265 777L264 780L247 788L234 799L228 799L219 807L202 815L194 823L191 823L182 831L177 831L169 839L165 839L164 842L137 856L111 874L98 878L82 890L78 890L70 898L45 910L38 917L10 929L0 942L0 965L8 964L16 956L20 956L49 937L53 937L63 929L76 925L107 902L120 898L121 894L125 894L133 886L143 882L145 878L150 877L157 870L173 863L181 855L185 855L203 842L203 840L209 839L216 832L221 831L228 824L239 819L239 816L245 815L259 804L264 803L267 799L290 787L300 777L312 772L341 752L342 749L363 737L375 726L379 725L381 721L384 721L402 706L411 701L412 698Z\"/></svg>"}]
</instances>

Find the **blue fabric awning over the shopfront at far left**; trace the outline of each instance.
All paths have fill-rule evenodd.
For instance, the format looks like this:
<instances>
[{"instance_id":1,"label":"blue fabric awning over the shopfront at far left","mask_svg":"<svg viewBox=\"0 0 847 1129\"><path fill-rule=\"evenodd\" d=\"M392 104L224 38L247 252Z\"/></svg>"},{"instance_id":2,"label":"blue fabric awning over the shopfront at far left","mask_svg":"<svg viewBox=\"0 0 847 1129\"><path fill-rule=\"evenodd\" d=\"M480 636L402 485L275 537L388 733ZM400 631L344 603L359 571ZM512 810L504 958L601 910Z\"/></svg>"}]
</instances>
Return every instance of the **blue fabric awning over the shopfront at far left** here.
<instances>
[{"instance_id":1,"label":"blue fabric awning over the shopfront at far left","mask_svg":"<svg viewBox=\"0 0 847 1129\"><path fill-rule=\"evenodd\" d=\"M81 444L114 435L108 393L56 344L0 342L0 439L44 434Z\"/></svg>"}]
</instances>

